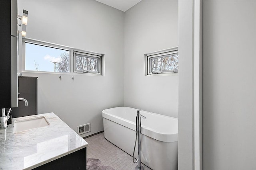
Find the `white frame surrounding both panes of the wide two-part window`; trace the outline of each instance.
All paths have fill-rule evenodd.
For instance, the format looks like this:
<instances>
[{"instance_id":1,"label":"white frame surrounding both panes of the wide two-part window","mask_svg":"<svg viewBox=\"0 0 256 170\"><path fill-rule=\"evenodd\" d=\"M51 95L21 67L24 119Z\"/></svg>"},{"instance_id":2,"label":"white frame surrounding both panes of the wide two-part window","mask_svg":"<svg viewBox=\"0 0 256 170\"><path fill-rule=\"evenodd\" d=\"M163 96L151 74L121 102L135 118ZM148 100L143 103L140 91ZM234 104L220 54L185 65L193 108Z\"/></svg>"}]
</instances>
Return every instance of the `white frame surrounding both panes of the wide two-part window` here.
<instances>
[{"instance_id":1,"label":"white frame surrounding both panes of the wide two-part window","mask_svg":"<svg viewBox=\"0 0 256 170\"><path fill-rule=\"evenodd\" d=\"M32 43L35 45L42 45L45 47L52 47L55 49L63 49L63 50L67 50L69 51L69 72L49 72L49 71L36 71L36 70L25 70L25 60L26 60L26 56L25 56L25 43ZM99 58L98 61L98 70L99 72L94 72L94 73L87 73L87 72L82 72L82 71L77 71L75 70L75 53L80 54L80 55L85 55L88 56L90 58L92 57L97 57ZM73 57L71 57L71 55L73 55ZM54 43L48 43L45 41L39 41L39 40L35 40L35 39L30 39L30 38L22 38L22 58L21 58L21 71L22 72L35 72L35 73L52 73L52 74L85 74L85 75L99 75L99 76L103 76L103 56L104 54L100 54L100 53L95 53L95 52L91 52L91 51L84 51L84 50L80 50L80 49L74 49L72 47L68 47L68 46L64 46L64 45L58 45L58 44L54 44Z\"/></svg>"}]
</instances>

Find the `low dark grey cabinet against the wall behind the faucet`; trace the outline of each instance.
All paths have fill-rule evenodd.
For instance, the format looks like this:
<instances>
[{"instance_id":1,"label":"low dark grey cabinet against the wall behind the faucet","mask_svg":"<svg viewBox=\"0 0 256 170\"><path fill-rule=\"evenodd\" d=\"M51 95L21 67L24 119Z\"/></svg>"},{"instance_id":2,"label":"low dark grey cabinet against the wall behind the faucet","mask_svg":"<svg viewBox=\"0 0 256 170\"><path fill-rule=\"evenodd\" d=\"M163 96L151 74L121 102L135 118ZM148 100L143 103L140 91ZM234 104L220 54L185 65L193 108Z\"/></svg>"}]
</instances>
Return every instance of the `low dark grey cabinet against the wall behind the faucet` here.
<instances>
[{"instance_id":1,"label":"low dark grey cabinet against the wall behind the faucet","mask_svg":"<svg viewBox=\"0 0 256 170\"><path fill-rule=\"evenodd\" d=\"M38 77L19 77L19 98L28 100L28 106L24 101L18 101L18 107L13 107L12 117L36 115L37 112L37 79Z\"/></svg>"}]
</instances>

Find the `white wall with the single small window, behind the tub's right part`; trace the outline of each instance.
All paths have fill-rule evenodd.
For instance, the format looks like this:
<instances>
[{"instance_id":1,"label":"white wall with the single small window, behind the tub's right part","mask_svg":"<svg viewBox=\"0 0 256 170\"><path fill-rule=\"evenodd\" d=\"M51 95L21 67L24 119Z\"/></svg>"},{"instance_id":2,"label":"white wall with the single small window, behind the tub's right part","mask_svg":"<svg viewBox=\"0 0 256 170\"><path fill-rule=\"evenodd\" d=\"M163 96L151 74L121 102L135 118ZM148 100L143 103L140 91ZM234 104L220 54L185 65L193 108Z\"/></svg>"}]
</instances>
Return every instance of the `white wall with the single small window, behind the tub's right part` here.
<instances>
[{"instance_id":1,"label":"white wall with the single small window, behind the tub's right part","mask_svg":"<svg viewBox=\"0 0 256 170\"><path fill-rule=\"evenodd\" d=\"M144 75L144 54L178 47L178 0L143 0L130 8L124 37L124 105L178 117L178 74Z\"/></svg>"}]
</instances>

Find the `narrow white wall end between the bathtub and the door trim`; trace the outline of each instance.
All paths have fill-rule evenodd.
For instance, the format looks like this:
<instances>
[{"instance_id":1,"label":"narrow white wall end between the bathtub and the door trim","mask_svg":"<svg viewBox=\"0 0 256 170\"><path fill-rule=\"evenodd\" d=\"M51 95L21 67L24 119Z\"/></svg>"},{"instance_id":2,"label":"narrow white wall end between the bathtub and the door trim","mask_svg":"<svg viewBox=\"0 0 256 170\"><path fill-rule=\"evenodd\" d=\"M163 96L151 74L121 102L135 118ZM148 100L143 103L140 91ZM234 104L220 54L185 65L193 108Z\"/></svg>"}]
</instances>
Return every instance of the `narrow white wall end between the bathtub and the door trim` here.
<instances>
[{"instance_id":1,"label":"narrow white wall end between the bathtub and the door trim","mask_svg":"<svg viewBox=\"0 0 256 170\"><path fill-rule=\"evenodd\" d=\"M179 170L193 170L193 13L194 1L179 1Z\"/></svg>"}]
</instances>

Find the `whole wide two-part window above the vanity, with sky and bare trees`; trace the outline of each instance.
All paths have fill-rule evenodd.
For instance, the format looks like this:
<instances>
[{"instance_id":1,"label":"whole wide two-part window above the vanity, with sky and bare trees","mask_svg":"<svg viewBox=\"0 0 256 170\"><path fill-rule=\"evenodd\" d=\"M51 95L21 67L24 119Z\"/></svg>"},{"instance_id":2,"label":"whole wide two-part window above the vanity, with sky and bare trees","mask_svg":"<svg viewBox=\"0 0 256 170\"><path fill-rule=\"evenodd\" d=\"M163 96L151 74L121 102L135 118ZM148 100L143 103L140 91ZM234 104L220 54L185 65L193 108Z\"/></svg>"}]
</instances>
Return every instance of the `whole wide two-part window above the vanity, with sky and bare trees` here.
<instances>
[{"instance_id":1,"label":"whole wide two-part window above the vanity, with sky and bare trees","mask_svg":"<svg viewBox=\"0 0 256 170\"><path fill-rule=\"evenodd\" d=\"M22 39L22 46L22 71L102 75L103 54L28 38Z\"/></svg>"}]
</instances>

